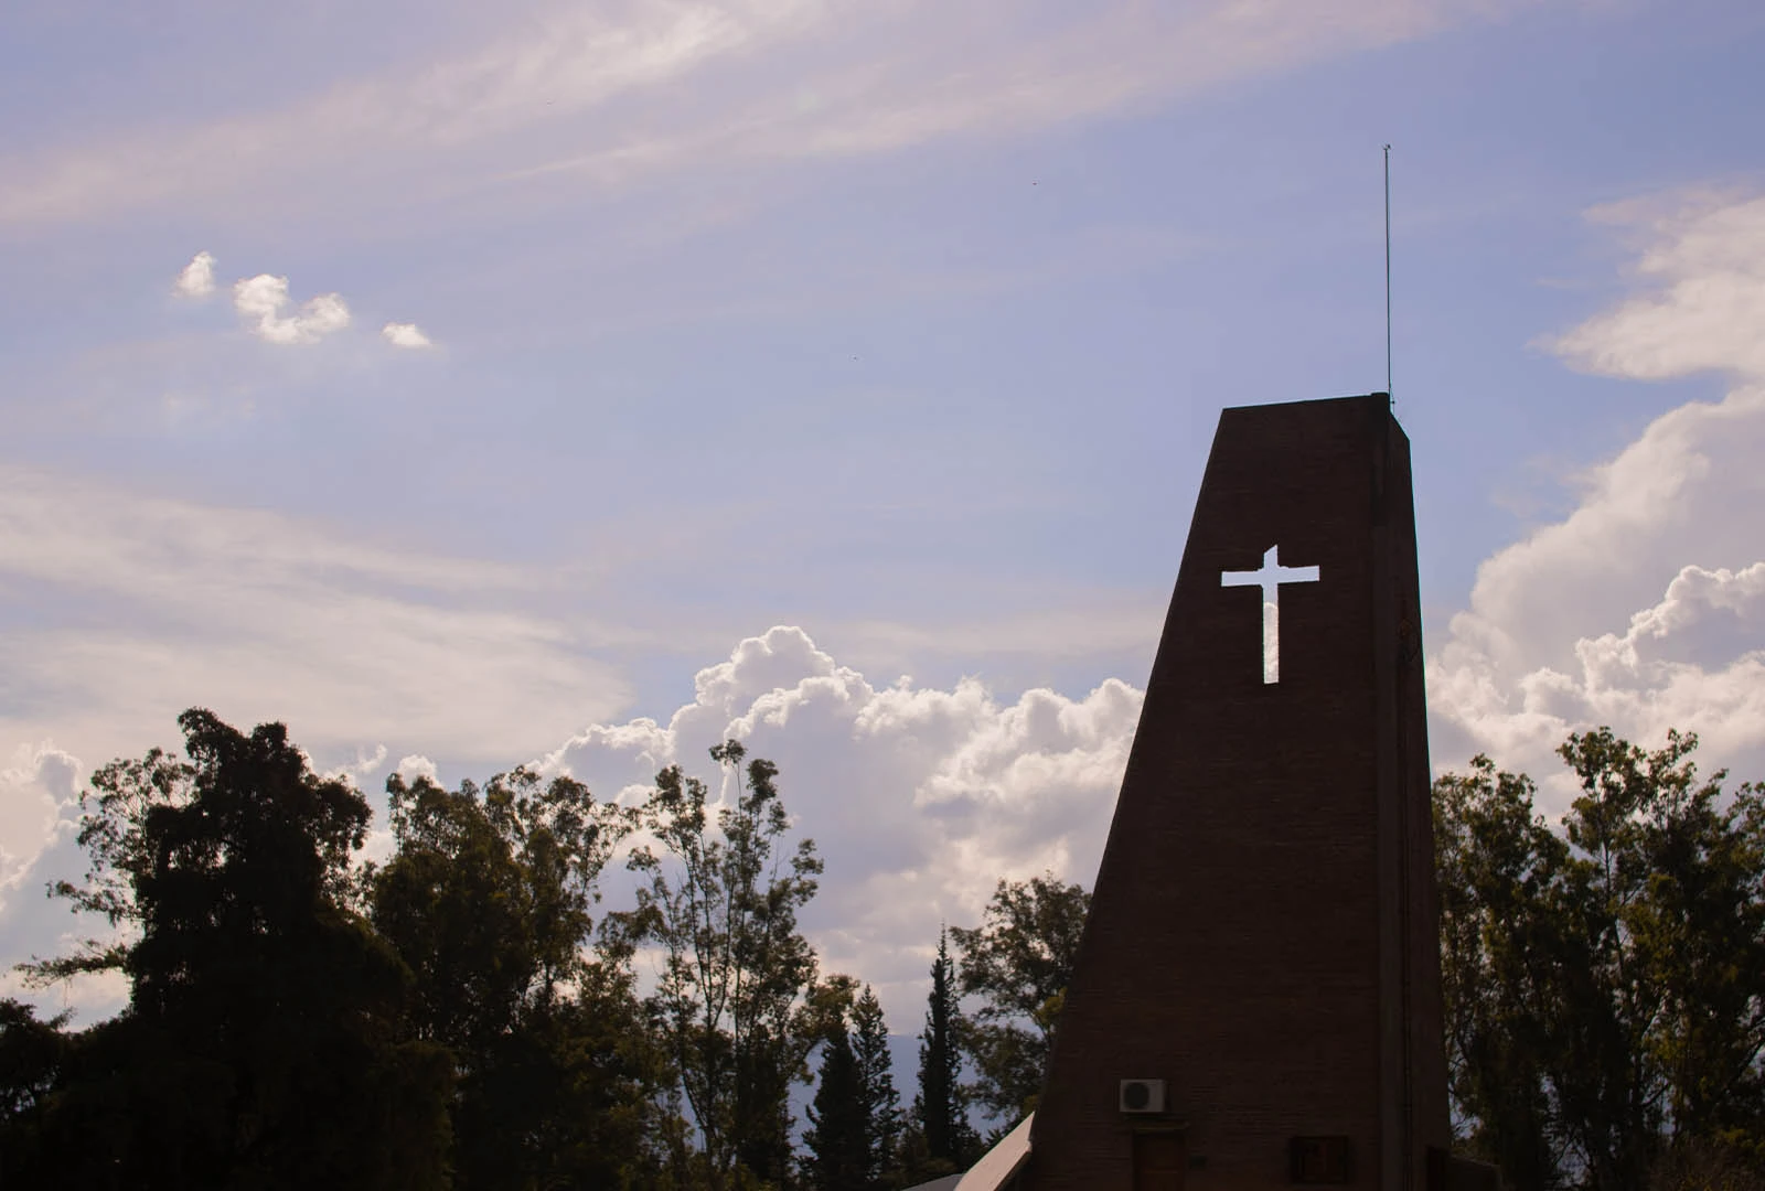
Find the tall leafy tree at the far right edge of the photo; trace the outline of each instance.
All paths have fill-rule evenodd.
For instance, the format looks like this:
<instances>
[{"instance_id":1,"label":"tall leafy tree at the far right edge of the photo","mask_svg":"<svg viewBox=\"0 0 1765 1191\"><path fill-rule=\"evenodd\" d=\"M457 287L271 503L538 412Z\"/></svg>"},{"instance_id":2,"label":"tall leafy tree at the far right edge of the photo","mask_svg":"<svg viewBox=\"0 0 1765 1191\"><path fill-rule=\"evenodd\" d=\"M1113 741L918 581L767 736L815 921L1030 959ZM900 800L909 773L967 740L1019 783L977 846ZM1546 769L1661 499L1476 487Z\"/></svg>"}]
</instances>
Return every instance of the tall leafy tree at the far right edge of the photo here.
<instances>
[{"instance_id":1,"label":"tall leafy tree at the far right edge of the photo","mask_svg":"<svg viewBox=\"0 0 1765 1191\"><path fill-rule=\"evenodd\" d=\"M1603 1189L1641 1186L1663 1126L1765 1156L1765 790L1723 799L1728 775L1698 782L1696 746L1599 729L1558 748L1581 785L1564 819L1562 1007L1585 1030L1557 1096Z\"/></svg>"}]
</instances>

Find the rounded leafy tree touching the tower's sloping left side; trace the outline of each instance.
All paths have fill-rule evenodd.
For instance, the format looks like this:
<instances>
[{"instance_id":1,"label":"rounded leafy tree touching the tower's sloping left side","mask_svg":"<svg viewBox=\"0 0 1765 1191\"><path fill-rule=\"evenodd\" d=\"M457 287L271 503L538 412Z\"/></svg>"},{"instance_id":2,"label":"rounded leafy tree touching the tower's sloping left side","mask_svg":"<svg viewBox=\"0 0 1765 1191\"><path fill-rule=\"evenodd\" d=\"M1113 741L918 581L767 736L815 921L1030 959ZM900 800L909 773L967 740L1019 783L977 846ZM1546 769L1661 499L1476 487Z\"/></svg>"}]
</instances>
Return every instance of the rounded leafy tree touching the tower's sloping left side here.
<instances>
[{"instance_id":1,"label":"rounded leafy tree touching the tower's sloping left side","mask_svg":"<svg viewBox=\"0 0 1765 1191\"><path fill-rule=\"evenodd\" d=\"M1004 1126L1036 1108L1089 912L1082 886L1047 873L1001 880L981 925L950 932L962 951L960 992L981 999L964 1036L974 1094Z\"/></svg>"}]
</instances>

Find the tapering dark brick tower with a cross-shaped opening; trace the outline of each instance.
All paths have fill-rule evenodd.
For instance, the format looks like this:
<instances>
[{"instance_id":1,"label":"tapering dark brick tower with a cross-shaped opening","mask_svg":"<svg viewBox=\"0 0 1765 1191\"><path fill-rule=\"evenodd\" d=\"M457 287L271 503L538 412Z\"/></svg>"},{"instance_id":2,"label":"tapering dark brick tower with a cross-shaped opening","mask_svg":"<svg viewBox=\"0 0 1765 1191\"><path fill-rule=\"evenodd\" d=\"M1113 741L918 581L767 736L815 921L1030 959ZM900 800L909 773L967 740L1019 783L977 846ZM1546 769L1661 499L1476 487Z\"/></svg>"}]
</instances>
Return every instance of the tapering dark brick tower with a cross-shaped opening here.
<instances>
[{"instance_id":1,"label":"tapering dark brick tower with a cross-shaped opening","mask_svg":"<svg viewBox=\"0 0 1765 1191\"><path fill-rule=\"evenodd\" d=\"M1389 404L1220 416L1013 1186L1447 1182L1416 515Z\"/></svg>"}]
</instances>

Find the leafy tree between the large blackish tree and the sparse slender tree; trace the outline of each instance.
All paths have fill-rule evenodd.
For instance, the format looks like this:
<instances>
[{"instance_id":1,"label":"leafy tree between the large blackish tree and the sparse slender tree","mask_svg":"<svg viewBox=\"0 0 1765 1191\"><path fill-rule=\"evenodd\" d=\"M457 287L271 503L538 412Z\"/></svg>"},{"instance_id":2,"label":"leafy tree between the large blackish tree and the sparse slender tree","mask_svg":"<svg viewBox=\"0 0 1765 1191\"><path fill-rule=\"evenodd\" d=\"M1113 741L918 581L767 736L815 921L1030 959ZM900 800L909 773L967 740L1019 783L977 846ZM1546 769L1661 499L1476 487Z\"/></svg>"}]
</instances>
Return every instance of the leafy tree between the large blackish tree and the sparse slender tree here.
<instances>
[{"instance_id":1,"label":"leafy tree between the large blackish tree and the sparse slender tree","mask_svg":"<svg viewBox=\"0 0 1765 1191\"><path fill-rule=\"evenodd\" d=\"M397 852L372 921L417 972L411 1025L448 1048L455 1186L621 1186L660 1165L660 1053L623 956L588 951L630 817L528 769L387 782Z\"/></svg>"}]
</instances>

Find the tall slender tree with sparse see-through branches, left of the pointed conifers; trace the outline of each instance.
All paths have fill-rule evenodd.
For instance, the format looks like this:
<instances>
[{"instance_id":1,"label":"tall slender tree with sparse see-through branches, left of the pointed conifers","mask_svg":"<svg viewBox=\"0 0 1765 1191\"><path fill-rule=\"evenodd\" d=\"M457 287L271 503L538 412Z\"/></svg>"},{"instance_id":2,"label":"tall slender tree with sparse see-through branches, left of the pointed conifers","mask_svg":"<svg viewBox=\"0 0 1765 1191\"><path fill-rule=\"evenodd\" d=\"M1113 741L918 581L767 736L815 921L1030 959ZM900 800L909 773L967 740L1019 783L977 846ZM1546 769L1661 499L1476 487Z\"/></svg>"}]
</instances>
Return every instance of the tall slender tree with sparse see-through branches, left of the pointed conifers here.
<instances>
[{"instance_id":1,"label":"tall slender tree with sparse see-through branches, left of the pointed conifers","mask_svg":"<svg viewBox=\"0 0 1765 1191\"><path fill-rule=\"evenodd\" d=\"M780 850L791 820L778 769L761 759L743 769L745 755L736 741L711 748L736 794L715 826L702 782L680 766L657 775L637 817L655 845L630 856L642 877L637 907L612 916L625 946L662 951L651 1006L718 1189L789 1179L789 1087L808 1082L808 1052L845 995L845 985L817 985L796 925L815 896L815 845Z\"/></svg>"}]
</instances>

